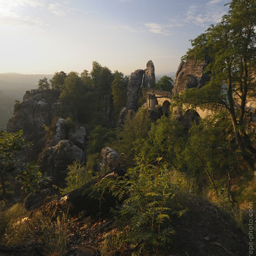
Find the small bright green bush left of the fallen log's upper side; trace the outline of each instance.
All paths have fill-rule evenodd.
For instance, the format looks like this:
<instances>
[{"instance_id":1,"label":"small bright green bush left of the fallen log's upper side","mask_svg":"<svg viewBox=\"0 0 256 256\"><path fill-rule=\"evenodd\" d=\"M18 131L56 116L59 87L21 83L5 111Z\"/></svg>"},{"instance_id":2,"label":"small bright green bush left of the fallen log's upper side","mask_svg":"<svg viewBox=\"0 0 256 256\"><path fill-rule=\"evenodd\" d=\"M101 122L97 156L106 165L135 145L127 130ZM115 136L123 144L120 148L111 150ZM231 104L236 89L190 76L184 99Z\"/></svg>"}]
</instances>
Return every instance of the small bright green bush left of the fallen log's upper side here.
<instances>
[{"instance_id":1,"label":"small bright green bush left of the fallen log's upper side","mask_svg":"<svg viewBox=\"0 0 256 256\"><path fill-rule=\"evenodd\" d=\"M73 162L73 165L68 165L68 174L66 176L66 188L61 189L61 194L71 192L80 188L82 185L88 183L93 178L92 171L87 170L86 167L78 160Z\"/></svg>"}]
</instances>

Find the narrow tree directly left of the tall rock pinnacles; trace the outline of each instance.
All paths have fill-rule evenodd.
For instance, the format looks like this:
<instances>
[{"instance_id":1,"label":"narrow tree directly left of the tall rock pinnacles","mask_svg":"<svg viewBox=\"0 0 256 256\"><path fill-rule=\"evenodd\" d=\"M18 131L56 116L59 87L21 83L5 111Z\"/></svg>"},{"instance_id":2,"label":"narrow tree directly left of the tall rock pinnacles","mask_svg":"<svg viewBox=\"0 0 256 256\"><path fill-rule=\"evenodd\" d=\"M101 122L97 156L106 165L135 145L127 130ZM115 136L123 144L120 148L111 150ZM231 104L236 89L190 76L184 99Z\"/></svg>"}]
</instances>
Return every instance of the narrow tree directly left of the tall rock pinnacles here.
<instances>
[{"instance_id":1,"label":"narrow tree directly left of the tall rock pinnacles","mask_svg":"<svg viewBox=\"0 0 256 256\"><path fill-rule=\"evenodd\" d=\"M123 73L118 71L114 73L114 81L112 82L111 89L115 112L118 115L126 103L127 80Z\"/></svg>"}]
</instances>

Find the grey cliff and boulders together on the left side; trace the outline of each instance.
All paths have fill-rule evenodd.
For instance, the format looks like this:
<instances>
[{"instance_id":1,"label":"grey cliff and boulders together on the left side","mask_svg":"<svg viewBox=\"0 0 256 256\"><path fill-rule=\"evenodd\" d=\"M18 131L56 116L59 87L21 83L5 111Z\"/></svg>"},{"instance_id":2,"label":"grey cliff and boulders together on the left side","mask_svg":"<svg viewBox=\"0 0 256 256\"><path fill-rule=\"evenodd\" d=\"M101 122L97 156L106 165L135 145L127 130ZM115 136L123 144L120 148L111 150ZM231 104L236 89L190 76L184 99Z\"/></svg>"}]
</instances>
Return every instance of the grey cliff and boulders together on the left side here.
<instances>
[{"instance_id":1,"label":"grey cliff and boulders together on the left side","mask_svg":"<svg viewBox=\"0 0 256 256\"><path fill-rule=\"evenodd\" d=\"M67 165L75 160L84 161L86 130L72 121L56 118L60 114L59 92L36 89L27 91L23 102L17 103L7 131L24 131L32 149L26 151L26 160L39 158L40 170L52 176L52 183L61 184L66 177ZM49 134L43 128L45 124Z\"/></svg>"}]
</instances>

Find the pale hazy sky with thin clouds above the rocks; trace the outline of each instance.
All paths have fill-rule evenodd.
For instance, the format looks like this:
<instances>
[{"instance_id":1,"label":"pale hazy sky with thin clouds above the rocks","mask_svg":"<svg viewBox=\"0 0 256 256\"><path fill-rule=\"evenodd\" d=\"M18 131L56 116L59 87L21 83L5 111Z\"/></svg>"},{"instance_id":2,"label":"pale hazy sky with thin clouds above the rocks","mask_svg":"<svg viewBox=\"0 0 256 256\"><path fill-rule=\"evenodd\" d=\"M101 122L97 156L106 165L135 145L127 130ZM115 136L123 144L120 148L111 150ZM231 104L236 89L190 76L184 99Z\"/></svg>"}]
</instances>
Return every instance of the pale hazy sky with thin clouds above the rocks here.
<instances>
[{"instance_id":1,"label":"pale hazy sky with thin clouds above the rocks","mask_svg":"<svg viewBox=\"0 0 256 256\"><path fill-rule=\"evenodd\" d=\"M0 0L0 73L176 72L229 0Z\"/></svg>"}]
</instances>

